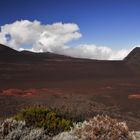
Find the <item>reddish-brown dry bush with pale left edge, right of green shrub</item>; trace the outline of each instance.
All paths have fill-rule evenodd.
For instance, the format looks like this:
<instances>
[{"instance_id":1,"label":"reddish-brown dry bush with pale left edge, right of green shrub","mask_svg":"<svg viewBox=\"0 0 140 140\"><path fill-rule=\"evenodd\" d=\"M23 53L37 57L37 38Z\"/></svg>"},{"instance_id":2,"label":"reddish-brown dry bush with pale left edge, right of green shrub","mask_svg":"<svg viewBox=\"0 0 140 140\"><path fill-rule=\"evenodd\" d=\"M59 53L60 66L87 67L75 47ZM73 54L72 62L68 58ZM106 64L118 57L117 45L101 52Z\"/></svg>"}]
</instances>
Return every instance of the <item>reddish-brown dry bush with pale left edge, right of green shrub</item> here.
<instances>
[{"instance_id":1,"label":"reddish-brown dry bush with pale left edge, right of green shrub","mask_svg":"<svg viewBox=\"0 0 140 140\"><path fill-rule=\"evenodd\" d=\"M108 116L96 116L77 123L70 132L63 132L53 140L134 140L125 122Z\"/></svg>"}]
</instances>

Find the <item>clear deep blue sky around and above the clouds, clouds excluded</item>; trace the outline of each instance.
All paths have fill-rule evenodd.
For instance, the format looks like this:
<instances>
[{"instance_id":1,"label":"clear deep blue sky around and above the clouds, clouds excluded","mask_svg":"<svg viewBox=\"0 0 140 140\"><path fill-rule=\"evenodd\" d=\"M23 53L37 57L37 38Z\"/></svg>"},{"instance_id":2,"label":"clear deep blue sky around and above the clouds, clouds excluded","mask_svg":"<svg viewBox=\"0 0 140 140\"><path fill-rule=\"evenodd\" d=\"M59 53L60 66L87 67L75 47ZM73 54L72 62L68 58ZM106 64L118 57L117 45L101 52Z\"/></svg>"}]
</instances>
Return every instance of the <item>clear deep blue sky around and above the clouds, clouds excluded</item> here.
<instances>
[{"instance_id":1,"label":"clear deep blue sky around and above the clouds, clouds excluded","mask_svg":"<svg viewBox=\"0 0 140 140\"><path fill-rule=\"evenodd\" d=\"M76 23L82 38L71 42L113 49L140 44L139 0L0 0L0 26L16 20Z\"/></svg>"}]
</instances>

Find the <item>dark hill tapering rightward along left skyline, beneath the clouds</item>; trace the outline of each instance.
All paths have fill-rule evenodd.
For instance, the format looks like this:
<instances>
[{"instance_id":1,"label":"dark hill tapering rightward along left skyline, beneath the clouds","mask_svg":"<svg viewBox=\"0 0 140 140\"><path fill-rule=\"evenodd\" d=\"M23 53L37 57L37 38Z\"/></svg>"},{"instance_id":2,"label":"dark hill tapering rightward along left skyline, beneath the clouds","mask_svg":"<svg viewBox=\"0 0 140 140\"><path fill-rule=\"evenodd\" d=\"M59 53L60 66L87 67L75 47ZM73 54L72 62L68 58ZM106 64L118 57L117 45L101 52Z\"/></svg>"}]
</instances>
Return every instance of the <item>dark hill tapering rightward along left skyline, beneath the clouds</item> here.
<instances>
[{"instance_id":1,"label":"dark hill tapering rightward along left skyline, beneath the clouds","mask_svg":"<svg viewBox=\"0 0 140 140\"><path fill-rule=\"evenodd\" d=\"M68 56L58 55L50 52L35 53L30 51L16 51L8 46L0 44L0 62L20 62L20 63L42 63L47 60L68 60L74 59Z\"/></svg>"}]
</instances>

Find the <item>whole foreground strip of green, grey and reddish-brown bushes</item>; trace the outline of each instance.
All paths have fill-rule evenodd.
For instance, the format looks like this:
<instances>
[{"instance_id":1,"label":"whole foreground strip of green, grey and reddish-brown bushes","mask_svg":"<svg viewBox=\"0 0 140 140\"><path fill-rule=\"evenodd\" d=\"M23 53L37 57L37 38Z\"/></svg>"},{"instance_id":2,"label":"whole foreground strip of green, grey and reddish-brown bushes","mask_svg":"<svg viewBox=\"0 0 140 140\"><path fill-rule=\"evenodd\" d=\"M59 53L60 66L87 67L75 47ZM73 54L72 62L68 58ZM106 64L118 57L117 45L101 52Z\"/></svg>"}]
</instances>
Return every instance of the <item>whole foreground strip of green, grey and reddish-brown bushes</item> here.
<instances>
[{"instance_id":1,"label":"whole foreground strip of green, grey and reddish-brown bushes","mask_svg":"<svg viewBox=\"0 0 140 140\"><path fill-rule=\"evenodd\" d=\"M2 140L139 140L125 122L97 115L74 122L70 114L45 107L28 107L0 125Z\"/></svg>"}]
</instances>

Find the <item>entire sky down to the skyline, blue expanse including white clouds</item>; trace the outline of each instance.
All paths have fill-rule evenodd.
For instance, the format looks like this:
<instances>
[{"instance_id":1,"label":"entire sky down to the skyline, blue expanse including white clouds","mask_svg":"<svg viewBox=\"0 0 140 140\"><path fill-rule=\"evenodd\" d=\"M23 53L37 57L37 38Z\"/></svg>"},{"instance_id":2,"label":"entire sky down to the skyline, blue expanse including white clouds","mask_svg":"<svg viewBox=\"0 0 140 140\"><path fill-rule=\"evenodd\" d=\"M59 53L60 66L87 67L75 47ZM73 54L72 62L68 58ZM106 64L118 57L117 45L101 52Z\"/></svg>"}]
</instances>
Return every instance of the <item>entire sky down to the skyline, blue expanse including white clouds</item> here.
<instances>
[{"instance_id":1,"label":"entire sky down to the skyline, blue expanse including white clouds","mask_svg":"<svg viewBox=\"0 0 140 140\"><path fill-rule=\"evenodd\" d=\"M139 6L139 0L0 0L0 43L19 50L123 59L140 45Z\"/></svg>"}]
</instances>

